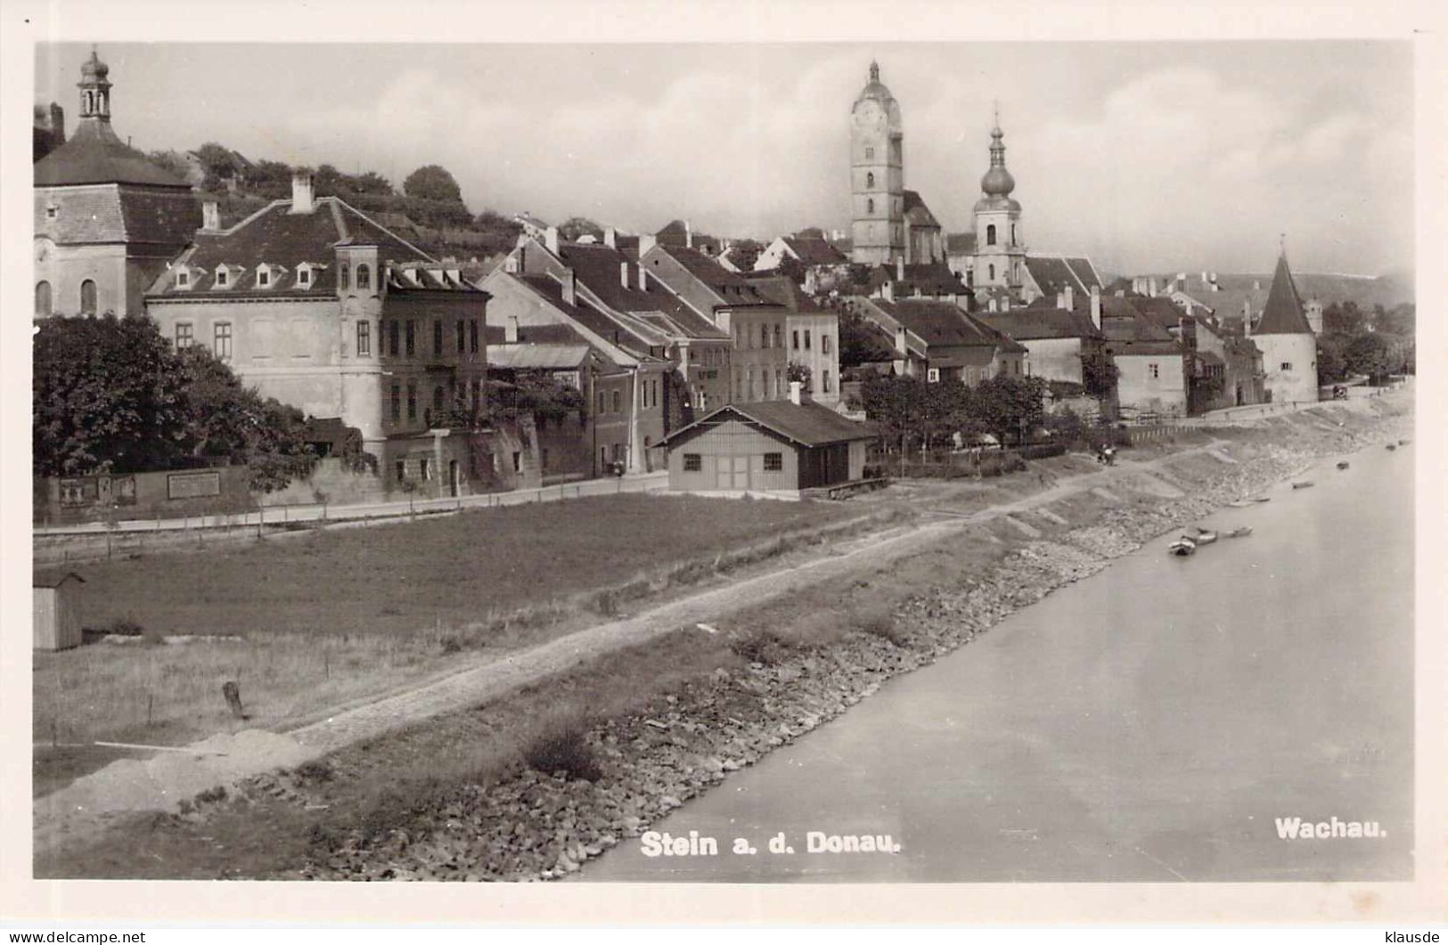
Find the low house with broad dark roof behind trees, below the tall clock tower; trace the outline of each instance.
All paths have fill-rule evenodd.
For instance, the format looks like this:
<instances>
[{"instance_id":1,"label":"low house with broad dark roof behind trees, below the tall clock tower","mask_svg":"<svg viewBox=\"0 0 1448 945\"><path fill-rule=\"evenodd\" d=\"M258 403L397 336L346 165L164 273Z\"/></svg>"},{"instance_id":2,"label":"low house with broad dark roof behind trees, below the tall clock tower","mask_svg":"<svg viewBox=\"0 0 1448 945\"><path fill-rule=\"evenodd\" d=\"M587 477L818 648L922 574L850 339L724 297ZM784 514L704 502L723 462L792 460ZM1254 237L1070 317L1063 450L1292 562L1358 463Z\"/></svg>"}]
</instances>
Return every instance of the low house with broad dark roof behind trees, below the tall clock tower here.
<instances>
[{"instance_id":1,"label":"low house with broad dark roof behind trees, below the tall clock tower","mask_svg":"<svg viewBox=\"0 0 1448 945\"><path fill-rule=\"evenodd\" d=\"M954 378L975 386L995 376L1027 376L1027 349L960 305L933 298L851 298L850 310L895 349L896 375Z\"/></svg>"}]
</instances>

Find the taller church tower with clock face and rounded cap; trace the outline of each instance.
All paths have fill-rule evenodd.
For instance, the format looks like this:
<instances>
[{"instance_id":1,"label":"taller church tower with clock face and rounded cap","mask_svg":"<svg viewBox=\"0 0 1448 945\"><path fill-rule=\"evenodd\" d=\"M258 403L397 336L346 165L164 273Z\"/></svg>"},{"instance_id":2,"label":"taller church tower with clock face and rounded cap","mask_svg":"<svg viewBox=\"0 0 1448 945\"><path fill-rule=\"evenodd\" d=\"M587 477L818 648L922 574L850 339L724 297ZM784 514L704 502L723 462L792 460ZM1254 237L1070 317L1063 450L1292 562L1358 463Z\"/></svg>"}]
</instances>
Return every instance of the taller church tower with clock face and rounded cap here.
<instances>
[{"instance_id":1,"label":"taller church tower with clock face and rounded cap","mask_svg":"<svg viewBox=\"0 0 1448 945\"><path fill-rule=\"evenodd\" d=\"M901 107L870 62L870 81L850 110L850 191L854 249L870 266L905 258L905 158Z\"/></svg>"}]
</instances>

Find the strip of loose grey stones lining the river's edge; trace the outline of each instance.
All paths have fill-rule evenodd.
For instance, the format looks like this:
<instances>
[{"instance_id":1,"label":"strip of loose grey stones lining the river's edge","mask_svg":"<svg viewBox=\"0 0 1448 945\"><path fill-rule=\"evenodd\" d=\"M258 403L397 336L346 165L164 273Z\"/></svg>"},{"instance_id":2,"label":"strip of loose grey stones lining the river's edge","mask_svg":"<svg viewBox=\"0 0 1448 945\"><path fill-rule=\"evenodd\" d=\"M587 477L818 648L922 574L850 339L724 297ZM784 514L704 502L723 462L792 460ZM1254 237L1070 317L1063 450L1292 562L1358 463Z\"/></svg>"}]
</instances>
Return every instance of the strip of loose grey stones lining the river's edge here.
<instances>
[{"instance_id":1,"label":"strip of loose grey stones lining the river's edge","mask_svg":"<svg viewBox=\"0 0 1448 945\"><path fill-rule=\"evenodd\" d=\"M905 601L886 624L860 624L828 645L749 650L641 711L584 737L595 780L524 768L460 784L417 805L403 826L359 826L319 844L287 878L537 880L582 868L689 797L804 735L905 673L970 643L1056 588L1087 577L1156 535L1199 521L1306 466L1409 436L1410 401L1322 407L1273 418L1228 444L1183 454L1108 489L972 525L961 540L1001 546L993 564ZM1027 521L1030 520L1030 521ZM275 793L275 780L252 789ZM306 802L306 789L284 789ZM281 876L275 878L282 878Z\"/></svg>"}]
</instances>

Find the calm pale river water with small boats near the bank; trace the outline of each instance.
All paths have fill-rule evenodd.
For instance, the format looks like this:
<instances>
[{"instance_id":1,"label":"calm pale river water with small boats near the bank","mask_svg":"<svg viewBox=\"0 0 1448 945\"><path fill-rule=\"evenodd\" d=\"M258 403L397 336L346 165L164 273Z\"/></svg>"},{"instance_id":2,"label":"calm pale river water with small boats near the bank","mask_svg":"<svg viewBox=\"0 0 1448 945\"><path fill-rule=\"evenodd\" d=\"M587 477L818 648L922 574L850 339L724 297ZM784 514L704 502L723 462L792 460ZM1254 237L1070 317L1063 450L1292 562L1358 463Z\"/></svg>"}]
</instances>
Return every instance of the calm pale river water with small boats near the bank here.
<instances>
[{"instance_id":1,"label":"calm pale river water with small boats near the bank","mask_svg":"<svg viewBox=\"0 0 1448 945\"><path fill-rule=\"evenodd\" d=\"M653 825L718 855L633 838L579 878L1410 878L1413 447L1348 459L1206 520L1253 535L1161 537ZM1381 835L1283 839L1290 818Z\"/></svg>"}]
</instances>

